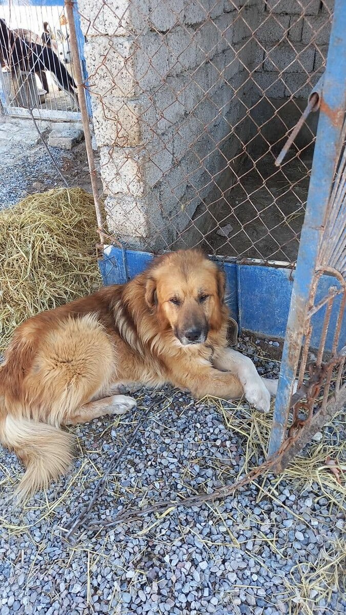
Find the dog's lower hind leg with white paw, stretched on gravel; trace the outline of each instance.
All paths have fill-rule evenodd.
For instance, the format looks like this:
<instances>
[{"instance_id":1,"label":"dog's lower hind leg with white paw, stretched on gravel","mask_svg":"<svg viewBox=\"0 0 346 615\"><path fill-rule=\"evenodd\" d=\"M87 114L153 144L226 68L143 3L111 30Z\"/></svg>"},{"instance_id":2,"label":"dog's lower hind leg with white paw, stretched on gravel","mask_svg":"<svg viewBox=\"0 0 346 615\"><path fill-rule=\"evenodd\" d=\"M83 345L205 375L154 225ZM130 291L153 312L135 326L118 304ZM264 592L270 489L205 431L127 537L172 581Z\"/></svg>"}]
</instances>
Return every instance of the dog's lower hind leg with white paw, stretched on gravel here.
<instances>
[{"instance_id":1,"label":"dog's lower hind leg with white paw, stretched on gravel","mask_svg":"<svg viewBox=\"0 0 346 615\"><path fill-rule=\"evenodd\" d=\"M105 415L123 415L128 410L135 408L136 402L127 395L111 395L104 397L96 402L85 403L76 410L66 421L66 425L76 425L77 423L89 423L92 419L98 419Z\"/></svg>"}]
</instances>

